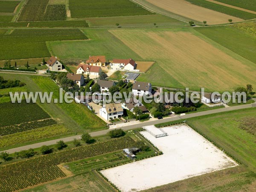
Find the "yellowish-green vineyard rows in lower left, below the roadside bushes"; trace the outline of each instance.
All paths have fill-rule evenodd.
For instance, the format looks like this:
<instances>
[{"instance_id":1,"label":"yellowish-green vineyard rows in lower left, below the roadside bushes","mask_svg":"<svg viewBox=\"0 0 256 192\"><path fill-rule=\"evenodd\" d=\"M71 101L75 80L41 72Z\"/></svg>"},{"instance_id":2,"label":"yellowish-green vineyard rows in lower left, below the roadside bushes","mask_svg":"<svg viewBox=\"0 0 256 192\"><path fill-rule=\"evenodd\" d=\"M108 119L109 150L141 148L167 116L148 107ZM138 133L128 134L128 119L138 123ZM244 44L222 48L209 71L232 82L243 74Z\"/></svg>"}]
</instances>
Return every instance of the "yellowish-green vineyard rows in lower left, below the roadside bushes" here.
<instances>
[{"instance_id":1,"label":"yellowish-green vineyard rows in lower left, below the roadside bushes","mask_svg":"<svg viewBox=\"0 0 256 192\"><path fill-rule=\"evenodd\" d=\"M56 172L58 177L54 175L55 172L48 177L46 175L58 164L118 151L134 144L134 140L127 136L2 166L0 167L0 191L14 191L54 180L60 177L59 172Z\"/></svg>"}]
</instances>

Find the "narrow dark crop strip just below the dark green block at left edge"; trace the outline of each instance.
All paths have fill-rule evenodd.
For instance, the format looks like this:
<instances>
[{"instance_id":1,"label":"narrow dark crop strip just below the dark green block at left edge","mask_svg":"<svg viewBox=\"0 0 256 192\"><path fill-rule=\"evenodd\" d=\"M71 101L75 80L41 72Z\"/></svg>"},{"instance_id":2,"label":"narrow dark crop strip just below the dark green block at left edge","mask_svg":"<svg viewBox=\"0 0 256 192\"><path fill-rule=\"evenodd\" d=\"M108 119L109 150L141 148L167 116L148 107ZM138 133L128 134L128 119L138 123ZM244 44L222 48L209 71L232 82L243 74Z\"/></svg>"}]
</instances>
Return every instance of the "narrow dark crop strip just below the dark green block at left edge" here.
<instances>
[{"instance_id":1,"label":"narrow dark crop strip just below the dark green block at left edge","mask_svg":"<svg viewBox=\"0 0 256 192\"><path fill-rule=\"evenodd\" d=\"M6 127L0 127L0 136L28 131L31 129L41 128L54 124L56 124L56 121L54 119L43 119L39 121L24 122L17 125L9 125Z\"/></svg>"}]
</instances>

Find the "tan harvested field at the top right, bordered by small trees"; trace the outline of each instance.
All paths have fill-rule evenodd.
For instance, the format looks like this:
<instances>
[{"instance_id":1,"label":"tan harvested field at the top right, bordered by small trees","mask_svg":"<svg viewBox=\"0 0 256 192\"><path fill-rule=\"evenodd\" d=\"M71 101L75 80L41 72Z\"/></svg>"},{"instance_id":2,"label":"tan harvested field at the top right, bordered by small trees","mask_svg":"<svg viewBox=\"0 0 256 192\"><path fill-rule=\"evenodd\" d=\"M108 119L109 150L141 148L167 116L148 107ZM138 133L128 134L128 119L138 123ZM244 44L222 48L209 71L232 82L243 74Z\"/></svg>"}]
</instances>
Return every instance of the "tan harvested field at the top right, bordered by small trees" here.
<instances>
[{"instance_id":1,"label":"tan harvested field at the top right, bordered by small trees","mask_svg":"<svg viewBox=\"0 0 256 192\"><path fill-rule=\"evenodd\" d=\"M233 22L243 21L237 17L226 15L220 12L215 12L204 7L193 5L185 0L146 0L154 6L165 9L166 11L173 12L183 17L191 18L199 22L207 21L207 24L221 24L228 23L228 19L232 19Z\"/></svg>"}]
</instances>

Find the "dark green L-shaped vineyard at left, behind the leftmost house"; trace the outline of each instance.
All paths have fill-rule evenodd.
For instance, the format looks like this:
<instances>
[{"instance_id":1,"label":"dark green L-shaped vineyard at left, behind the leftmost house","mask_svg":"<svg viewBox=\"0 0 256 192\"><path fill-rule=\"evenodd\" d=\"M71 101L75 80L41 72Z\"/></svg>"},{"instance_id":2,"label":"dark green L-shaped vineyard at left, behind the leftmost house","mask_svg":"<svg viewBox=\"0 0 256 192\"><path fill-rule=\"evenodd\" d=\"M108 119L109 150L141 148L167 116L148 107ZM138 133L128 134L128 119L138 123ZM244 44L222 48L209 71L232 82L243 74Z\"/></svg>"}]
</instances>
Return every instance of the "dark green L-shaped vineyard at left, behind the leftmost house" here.
<instances>
[{"instance_id":1,"label":"dark green L-shaped vineyard at left, behind the leftmost house","mask_svg":"<svg viewBox=\"0 0 256 192\"><path fill-rule=\"evenodd\" d=\"M79 29L15 29L0 38L0 60L50 57L46 41L87 39Z\"/></svg>"}]
</instances>

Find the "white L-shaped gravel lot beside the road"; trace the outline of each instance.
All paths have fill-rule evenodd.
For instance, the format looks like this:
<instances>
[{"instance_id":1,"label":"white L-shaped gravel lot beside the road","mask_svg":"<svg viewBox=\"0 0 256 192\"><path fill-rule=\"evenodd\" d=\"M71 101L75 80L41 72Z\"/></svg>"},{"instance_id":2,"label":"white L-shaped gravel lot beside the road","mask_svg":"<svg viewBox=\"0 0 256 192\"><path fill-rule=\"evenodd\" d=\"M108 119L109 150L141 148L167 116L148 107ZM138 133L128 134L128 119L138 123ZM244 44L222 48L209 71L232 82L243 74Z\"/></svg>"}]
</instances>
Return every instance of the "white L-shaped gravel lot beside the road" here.
<instances>
[{"instance_id":1,"label":"white L-shaped gravel lot beside the road","mask_svg":"<svg viewBox=\"0 0 256 192\"><path fill-rule=\"evenodd\" d=\"M154 129L154 125L145 128ZM226 169L238 164L186 125L163 128L168 136L144 137L163 155L102 171L121 191L140 191L189 177Z\"/></svg>"}]
</instances>

